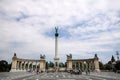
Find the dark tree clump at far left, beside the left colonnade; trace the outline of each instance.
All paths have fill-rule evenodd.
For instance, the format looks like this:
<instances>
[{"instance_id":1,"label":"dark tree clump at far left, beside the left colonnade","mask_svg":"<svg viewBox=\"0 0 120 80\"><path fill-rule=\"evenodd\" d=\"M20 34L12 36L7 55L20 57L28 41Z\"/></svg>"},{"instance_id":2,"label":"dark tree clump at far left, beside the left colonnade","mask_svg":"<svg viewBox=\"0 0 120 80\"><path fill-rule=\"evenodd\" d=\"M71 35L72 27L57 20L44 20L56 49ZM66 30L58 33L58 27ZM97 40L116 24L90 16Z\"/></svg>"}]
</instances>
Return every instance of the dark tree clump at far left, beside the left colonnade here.
<instances>
[{"instance_id":1,"label":"dark tree clump at far left, beside the left colonnade","mask_svg":"<svg viewBox=\"0 0 120 80\"><path fill-rule=\"evenodd\" d=\"M11 64L8 64L7 61L1 60L0 61L0 72L8 72L10 71Z\"/></svg>"}]
</instances>

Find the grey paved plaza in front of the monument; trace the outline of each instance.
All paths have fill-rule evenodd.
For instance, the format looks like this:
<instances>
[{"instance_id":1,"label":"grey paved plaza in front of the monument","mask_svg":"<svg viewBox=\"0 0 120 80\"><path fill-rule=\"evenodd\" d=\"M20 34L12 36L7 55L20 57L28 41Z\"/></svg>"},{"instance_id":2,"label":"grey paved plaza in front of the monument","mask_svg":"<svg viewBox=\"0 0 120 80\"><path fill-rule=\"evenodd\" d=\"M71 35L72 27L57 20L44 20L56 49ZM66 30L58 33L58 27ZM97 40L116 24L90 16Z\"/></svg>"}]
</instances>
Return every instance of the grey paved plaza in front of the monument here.
<instances>
[{"instance_id":1,"label":"grey paved plaza in front of the monument","mask_svg":"<svg viewBox=\"0 0 120 80\"><path fill-rule=\"evenodd\" d=\"M120 74L113 72L92 72L88 75L70 74L67 72L58 73L0 73L0 80L120 80Z\"/></svg>"}]
</instances>

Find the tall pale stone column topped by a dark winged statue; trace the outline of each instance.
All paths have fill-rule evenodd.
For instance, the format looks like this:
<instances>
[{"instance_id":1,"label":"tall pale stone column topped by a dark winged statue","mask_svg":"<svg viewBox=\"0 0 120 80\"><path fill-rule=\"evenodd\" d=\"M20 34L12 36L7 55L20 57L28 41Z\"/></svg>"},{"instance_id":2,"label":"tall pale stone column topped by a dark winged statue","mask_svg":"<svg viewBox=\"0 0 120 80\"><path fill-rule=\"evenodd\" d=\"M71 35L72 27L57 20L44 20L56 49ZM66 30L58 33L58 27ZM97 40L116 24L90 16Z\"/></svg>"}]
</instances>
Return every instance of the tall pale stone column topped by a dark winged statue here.
<instances>
[{"instance_id":1,"label":"tall pale stone column topped by a dark winged statue","mask_svg":"<svg viewBox=\"0 0 120 80\"><path fill-rule=\"evenodd\" d=\"M58 58L58 28L55 27L55 58L54 58L54 68L56 71L59 69L59 58Z\"/></svg>"}]
</instances>

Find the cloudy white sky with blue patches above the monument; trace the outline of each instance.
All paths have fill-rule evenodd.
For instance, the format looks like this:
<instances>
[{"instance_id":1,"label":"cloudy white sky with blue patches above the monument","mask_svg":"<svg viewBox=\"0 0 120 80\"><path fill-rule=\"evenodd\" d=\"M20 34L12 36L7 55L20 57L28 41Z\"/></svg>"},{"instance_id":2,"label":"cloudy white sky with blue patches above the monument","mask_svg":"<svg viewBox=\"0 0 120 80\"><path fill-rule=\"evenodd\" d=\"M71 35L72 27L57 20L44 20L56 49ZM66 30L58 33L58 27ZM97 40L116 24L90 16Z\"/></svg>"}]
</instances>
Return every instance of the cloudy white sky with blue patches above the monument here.
<instances>
[{"instance_id":1,"label":"cloudy white sky with blue patches above the monument","mask_svg":"<svg viewBox=\"0 0 120 80\"><path fill-rule=\"evenodd\" d=\"M106 63L120 51L120 0L0 0L0 60L53 61L55 26L60 62L97 53Z\"/></svg>"}]
</instances>

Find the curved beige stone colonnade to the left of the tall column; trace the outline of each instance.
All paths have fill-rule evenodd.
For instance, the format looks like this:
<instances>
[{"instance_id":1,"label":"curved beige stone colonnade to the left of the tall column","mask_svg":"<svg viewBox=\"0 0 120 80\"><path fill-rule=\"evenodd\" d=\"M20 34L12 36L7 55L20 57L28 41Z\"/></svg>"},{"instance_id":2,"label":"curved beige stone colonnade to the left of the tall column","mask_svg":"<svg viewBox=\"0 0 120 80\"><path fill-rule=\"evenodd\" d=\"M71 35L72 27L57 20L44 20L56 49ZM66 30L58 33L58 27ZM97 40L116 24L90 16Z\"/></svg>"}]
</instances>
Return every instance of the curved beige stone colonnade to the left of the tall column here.
<instances>
[{"instance_id":1,"label":"curved beige stone colonnade to the left of the tall column","mask_svg":"<svg viewBox=\"0 0 120 80\"><path fill-rule=\"evenodd\" d=\"M19 72L19 71L45 71L45 57L41 56L40 60L33 59L22 59L16 56L12 58L12 66L10 72Z\"/></svg>"}]
</instances>

